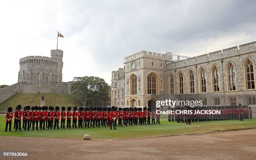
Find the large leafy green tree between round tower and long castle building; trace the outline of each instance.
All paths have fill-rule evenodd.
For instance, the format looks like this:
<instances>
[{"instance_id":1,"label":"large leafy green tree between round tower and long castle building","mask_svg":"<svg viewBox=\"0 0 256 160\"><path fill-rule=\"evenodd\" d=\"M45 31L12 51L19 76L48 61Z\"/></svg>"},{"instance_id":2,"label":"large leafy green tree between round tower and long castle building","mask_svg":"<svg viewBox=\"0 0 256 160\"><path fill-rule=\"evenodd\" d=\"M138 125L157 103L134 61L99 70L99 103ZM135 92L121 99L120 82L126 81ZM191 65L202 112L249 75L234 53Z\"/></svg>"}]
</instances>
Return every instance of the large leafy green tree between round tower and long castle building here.
<instances>
[{"instance_id":1,"label":"large leafy green tree between round tower and long castle building","mask_svg":"<svg viewBox=\"0 0 256 160\"><path fill-rule=\"evenodd\" d=\"M95 104L102 106L103 102L109 101L109 90L110 86L105 80L94 76L74 77L71 87L72 94L83 101L84 106L90 107L94 107Z\"/></svg>"}]
</instances>

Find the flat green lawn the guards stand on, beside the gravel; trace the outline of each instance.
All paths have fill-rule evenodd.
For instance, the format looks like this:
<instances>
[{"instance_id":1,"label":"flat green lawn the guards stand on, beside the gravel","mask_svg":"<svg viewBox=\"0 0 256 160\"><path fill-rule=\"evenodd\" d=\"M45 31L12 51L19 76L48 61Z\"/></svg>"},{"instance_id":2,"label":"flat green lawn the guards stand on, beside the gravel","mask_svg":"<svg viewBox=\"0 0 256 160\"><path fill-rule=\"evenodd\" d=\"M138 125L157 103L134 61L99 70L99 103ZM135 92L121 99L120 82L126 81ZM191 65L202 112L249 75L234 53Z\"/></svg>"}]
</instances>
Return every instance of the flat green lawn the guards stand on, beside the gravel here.
<instances>
[{"instance_id":1,"label":"flat green lawn the guards stand on, beside the gravel","mask_svg":"<svg viewBox=\"0 0 256 160\"><path fill-rule=\"evenodd\" d=\"M81 139L84 134L90 134L92 140L96 139L124 139L157 137L168 135L184 135L195 133L207 133L215 131L237 130L246 128L256 128L256 119L250 120L223 120L210 122L192 122L192 125L185 123L168 122L166 118L160 120L161 125L142 125L117 127L117 130L109 128L83 128L65 130L33 130L4 132L5 116L0 115L0 136L15 137L46 137L46 138L71 138ZM13 125L13 124L12 124ZM13 128L13 126L12 126ZM245 131L247 132L247 131Z\"/></svg>"}]
</instances>

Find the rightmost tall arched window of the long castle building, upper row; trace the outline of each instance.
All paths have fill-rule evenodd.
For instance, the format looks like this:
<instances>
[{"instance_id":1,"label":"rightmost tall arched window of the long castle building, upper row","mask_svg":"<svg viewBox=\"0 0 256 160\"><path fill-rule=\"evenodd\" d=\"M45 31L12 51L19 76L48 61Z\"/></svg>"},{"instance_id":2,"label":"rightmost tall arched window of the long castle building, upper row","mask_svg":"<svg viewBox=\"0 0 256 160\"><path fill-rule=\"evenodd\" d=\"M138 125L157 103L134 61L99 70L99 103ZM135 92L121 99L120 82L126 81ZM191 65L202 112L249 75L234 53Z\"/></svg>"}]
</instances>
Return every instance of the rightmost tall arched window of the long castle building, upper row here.
<instances>
[{"instance_id":1,"label":"rightmost tall arched window of the long castle building, upper row","mask_svg":"<svg viewBox=\"0 0 256 160\"><path fill-rule=\"evenodd\" d=\"M247 60L245 63L245 69L246 69L246 89L254 89L254 75L253 75L253 62L251 60Z\"/></svg>"}]
</instances>

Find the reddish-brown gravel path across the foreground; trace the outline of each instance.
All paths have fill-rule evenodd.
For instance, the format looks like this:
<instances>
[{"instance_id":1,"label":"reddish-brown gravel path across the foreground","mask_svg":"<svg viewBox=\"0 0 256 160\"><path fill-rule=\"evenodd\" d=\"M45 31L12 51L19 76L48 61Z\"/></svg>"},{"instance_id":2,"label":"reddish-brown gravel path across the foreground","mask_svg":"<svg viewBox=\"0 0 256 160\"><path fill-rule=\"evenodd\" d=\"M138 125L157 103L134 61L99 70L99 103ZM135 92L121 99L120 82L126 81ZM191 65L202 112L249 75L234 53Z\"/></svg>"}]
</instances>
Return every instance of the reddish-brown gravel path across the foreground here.
<instances>
[{"instance_id":1,"label":"reddish-brown gravel path across the foreground","mask_svg":"<svg viewBox=\"0 0 256 160\"><path fill-rule=\"evenodd\" d=\"M256 129L129 140L0 137L0 152L26 160L256 160Z\"/></svg>"}]
</instances>

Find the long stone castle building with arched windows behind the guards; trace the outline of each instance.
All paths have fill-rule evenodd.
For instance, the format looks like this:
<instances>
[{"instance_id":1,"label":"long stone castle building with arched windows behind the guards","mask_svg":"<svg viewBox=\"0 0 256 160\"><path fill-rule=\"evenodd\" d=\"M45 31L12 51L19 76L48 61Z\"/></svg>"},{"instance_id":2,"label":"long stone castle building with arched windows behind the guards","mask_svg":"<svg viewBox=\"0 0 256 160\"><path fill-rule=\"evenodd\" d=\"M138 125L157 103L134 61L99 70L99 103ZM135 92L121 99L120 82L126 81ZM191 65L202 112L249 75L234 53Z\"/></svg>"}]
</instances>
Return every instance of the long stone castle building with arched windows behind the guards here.
<instances>
[{"instance_id":1,"label":"long stone castle building with arched windows behind the guards","mask_svg":"<svg viewBox=\"0 0 256 160\"><path fill-rule=\"evenodd\" d=\"M204 106L248 105L256 112L256 42L173 59L141 51L112 71L111 105L151 107L156 100L202 100Z\"/></svg>"}]
</instances>

